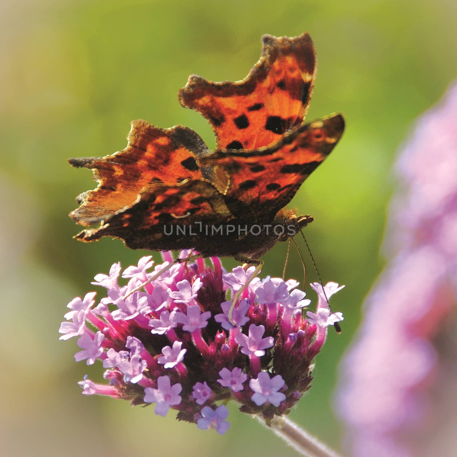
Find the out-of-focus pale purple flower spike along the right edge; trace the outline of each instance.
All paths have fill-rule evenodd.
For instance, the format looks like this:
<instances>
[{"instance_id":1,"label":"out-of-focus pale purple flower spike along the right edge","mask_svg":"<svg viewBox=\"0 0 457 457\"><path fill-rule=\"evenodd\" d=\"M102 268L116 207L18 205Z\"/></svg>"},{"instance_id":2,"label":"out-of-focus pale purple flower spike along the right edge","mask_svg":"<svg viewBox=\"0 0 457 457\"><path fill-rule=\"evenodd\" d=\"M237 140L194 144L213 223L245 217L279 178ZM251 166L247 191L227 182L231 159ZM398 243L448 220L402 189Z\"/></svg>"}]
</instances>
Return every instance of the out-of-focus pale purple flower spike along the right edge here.
<instances>
[{"instance_id":1,"label":"out-of-focus pale purple flower spike along the right edge","mask_svg":"<svg viewBox=\"0 0 457 457\"><path fill-rule=\"evenodd\" d=\"M446 401L433 399L447 370L435 341L457 294L456 119L457 85L419 120L396 165L401 184L384 241L389 263L341 365L339 415L354 457L454 454L437 421Z\"/></svg>"}]
</instances>

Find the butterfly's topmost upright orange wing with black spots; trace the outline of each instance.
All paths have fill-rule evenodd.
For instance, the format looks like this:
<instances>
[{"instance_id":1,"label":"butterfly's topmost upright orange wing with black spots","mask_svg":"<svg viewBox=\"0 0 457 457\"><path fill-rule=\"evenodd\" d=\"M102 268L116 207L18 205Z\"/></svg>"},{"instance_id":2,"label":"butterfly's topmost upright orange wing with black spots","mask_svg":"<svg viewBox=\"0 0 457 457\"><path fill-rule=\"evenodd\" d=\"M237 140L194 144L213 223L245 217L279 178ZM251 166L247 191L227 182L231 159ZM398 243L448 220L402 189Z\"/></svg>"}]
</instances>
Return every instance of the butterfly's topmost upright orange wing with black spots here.
<instances>
[{"instance_id":1,"label":"butterfly's topmost upright orange wing with black spots","mask_svg":"<svg viewBox=\"0 0 457 457\"><path fill-rule=\"evenodd\" d=\"M217 149L254 150L303 122L315 76L316 53L307 33L265 35L262 57L244 80L213 83L192 75L178 99L210 122Z\"/></svg>"}]
</instances>

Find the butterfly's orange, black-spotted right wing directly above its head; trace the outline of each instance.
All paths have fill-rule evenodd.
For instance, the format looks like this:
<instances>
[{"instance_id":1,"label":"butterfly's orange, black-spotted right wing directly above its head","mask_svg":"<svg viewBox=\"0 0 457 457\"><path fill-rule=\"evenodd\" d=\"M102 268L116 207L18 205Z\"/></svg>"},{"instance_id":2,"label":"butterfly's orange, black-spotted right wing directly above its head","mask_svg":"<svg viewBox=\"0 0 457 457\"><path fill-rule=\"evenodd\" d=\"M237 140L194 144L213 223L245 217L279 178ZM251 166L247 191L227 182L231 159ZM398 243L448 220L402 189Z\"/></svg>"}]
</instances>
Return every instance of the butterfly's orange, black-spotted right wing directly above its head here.
<instances>
[{"instance_id":1,"label":"butterfly's orange, black-spotted right wing directly above its head","mask_svg":"<svg viewBox=\"0 0 457 457\"><path fill-rule=\"evenodd\" d=\"M344 119L333 115L297 126L280 141L256 151L219 150L199 159L230 175L226 203L232 213L254 217L276 213L287 205L303 181L338 143ZM240 205L243 202L245 205ZM233 203L233 207L231 205Z\"/></svg>"}]
</instances>

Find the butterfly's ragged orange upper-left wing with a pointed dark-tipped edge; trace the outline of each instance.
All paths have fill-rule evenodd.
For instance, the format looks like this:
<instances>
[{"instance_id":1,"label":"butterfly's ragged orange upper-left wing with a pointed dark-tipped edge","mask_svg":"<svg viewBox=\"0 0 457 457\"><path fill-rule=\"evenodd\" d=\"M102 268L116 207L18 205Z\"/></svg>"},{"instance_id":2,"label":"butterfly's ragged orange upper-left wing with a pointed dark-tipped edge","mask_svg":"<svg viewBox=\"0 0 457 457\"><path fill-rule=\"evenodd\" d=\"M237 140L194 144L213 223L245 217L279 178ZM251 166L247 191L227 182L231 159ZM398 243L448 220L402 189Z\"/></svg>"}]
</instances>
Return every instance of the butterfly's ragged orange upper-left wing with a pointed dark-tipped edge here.
<instances>
[{"instance_id":1,"label":"butterfly's ragged orange upper-left wing with a pointed dark-tipped edge","mask_svg":"<svg viewBox=\"0 0 457 457\"><path fill-rule=\"evenodd\" d=\"M133 121L127 139L128 146L113 155L69 159L75 167L93 170L99 183L97 189L77 197L81 206L70 213L77 223L92 225L133 205L145 186L174 185L214 174L199 169L196 158L208 149L190 128L161 129ZM220 186L224 188L223 183Z\"/></svg>"}]
</instances>

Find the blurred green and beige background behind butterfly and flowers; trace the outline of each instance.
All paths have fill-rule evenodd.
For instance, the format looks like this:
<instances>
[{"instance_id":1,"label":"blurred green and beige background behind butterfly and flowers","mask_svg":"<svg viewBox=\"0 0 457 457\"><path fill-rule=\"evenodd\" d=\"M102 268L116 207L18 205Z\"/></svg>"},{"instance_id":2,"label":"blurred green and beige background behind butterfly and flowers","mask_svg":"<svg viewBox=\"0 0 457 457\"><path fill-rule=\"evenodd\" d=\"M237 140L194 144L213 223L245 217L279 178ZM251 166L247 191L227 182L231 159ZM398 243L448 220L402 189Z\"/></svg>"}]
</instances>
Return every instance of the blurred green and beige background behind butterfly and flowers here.
<instances>
[{"instance_id":1,"label":"blurred green and beige background behind butterfly and flowers","mask_svg":"<svg viewBox=\"0 0 457 457\"><path fill-rule=\"evenodd\" d=\"M76 341L58 341L76 295L113 262L143 252L103 239L82 244L67 214L93 188L68 157L123 149L132 119L183 124L214 147L209 125L177 102L188 75L240 80L260 56L260 37L310 32L318 72L308 119L342 112L347 130L293 204L324 281L346 284L333 299L343 334L330 332L311 391L290 417L338 448L332 412L338 363L360 322L361 303L382 268L379 249L391 167L414 119L457 76L457 4L430 1L52 1L0 6L3 341L0 441L4 455L293 456L268 430L231 408L225 436L178 423L174 414L84 397L77 381L101 366L76 364ZM302 241L303 253L305 248ZM265 256L280 276L286 246ZM158 256L155 255L156 259ZM226 268L235 266L224 261ZM307 260L309 277L314 280ZM292 251L288 277L302 278ZM309 282L308 281L308 282ZM309 291L310 298L314 298ZM254 453L254 454L253 454Z\"/></svg>"}]
</instances>

